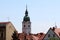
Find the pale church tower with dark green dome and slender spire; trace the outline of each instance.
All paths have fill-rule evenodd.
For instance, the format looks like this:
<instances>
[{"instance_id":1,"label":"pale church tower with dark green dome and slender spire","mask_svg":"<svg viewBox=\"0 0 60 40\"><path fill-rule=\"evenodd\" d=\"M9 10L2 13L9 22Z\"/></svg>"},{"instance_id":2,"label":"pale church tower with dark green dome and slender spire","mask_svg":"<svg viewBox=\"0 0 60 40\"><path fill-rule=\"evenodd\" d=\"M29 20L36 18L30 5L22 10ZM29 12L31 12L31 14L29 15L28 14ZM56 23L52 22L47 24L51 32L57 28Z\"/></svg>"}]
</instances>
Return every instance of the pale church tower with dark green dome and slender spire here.
<instances>
[{"instance_id":1,"label":"pale church tower with dark green dome and slender spire","mask_svg":"<svg viewBox=\"0 0 60 40\"><path fill-rule=\"evenodd\" d=\"M25 11L25 16L22 22L22 32L26 33L27 35L31 33L31 22L30 22L30 17L28 16L27 7Z\"/></svg>"}]
</instances>

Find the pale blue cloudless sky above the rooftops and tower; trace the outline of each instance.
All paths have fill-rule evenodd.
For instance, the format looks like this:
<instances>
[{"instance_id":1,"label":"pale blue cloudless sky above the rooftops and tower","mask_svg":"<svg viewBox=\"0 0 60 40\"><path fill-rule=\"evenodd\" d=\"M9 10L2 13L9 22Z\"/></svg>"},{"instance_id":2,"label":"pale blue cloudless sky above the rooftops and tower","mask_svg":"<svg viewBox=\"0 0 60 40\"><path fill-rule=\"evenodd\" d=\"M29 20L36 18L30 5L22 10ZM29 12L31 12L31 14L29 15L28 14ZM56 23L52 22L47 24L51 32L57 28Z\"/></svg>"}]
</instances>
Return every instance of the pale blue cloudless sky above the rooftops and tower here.
<instances>
[{"instance_id":1,"label":"pale blue cloudless sky above the rooftops and tower","mask_svg":"<svg viewBox=\"0 0 60 40\"><path fill-rule=\"evenodd\" d=\"M22 32L26 4L32 33L46 33L50 27L60 27L60 0L0 0L0 22L9 21Z\"/></svg>"}]
</instances>

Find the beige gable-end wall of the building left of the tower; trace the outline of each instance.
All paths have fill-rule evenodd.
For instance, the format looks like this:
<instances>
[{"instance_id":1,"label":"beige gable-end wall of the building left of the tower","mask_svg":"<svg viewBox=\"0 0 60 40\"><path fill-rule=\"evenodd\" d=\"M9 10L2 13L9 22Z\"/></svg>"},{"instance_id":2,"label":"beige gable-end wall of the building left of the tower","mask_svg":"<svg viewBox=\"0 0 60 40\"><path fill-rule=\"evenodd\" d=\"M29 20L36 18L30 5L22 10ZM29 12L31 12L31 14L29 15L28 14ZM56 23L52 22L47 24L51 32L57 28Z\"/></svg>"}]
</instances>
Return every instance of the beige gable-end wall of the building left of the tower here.
<instances>
[{"instance_id":1,"label":"beige gable-end wall of the building left of the tower","mask_svg":"<svg viewBox=\"0 0 60 40\"><path fill-rule=\"evenodd\" d=\"M15 30L16 29L11 23L6 24L6 40L12 40L12 35Z\"/></svg>"}]
</instances>

